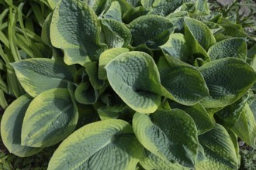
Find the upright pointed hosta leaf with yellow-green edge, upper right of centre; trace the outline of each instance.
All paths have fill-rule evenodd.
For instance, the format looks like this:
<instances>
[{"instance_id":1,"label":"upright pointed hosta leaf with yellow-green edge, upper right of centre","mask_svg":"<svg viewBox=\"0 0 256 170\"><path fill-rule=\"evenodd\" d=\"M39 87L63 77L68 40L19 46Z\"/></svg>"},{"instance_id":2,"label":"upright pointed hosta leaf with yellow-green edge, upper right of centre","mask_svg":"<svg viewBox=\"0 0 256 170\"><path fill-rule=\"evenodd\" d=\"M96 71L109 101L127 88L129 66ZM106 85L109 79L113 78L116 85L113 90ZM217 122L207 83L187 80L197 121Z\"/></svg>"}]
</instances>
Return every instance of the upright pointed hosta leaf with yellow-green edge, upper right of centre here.
<instances>
[{"instance_id":1,"label":"upright pointed hosta leaf with yellow-green edge, upper right of centre","mask_svg":"<svg viewBox=\"0 0 256 170\"><path fill-rule=\"evenodd\" d=\"M184 21L185 35L190 33L203 49L208 50L210 46L216 43L213 33L204 23L188 17L185 17Z\"/></svg>"}]
</instances>

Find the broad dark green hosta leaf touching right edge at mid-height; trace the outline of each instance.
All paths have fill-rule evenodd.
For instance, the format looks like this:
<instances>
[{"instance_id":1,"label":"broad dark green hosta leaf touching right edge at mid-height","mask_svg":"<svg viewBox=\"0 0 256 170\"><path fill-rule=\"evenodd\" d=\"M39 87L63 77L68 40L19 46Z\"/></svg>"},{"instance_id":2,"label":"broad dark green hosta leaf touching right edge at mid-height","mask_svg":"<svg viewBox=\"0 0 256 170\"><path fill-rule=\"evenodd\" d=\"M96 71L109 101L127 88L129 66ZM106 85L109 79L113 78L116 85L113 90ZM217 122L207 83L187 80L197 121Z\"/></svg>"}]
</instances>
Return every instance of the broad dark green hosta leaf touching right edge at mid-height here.
<instances>
[{"instance_id":1,"label":"broad dark green hosta leaf touching right edge at mid-height","mask_svg":"<svg viewBox=\"0 0 256 170\"><path fill-rule=\"evenodd\" d=\"M209 88L209 97L202 100L204 107L224 107L233 104L256 81L254 70L241 59L216 59L199 68Z\"/></svg>"}]
</instances>

